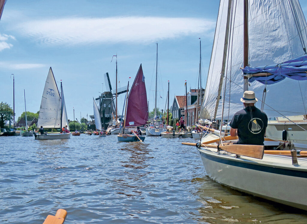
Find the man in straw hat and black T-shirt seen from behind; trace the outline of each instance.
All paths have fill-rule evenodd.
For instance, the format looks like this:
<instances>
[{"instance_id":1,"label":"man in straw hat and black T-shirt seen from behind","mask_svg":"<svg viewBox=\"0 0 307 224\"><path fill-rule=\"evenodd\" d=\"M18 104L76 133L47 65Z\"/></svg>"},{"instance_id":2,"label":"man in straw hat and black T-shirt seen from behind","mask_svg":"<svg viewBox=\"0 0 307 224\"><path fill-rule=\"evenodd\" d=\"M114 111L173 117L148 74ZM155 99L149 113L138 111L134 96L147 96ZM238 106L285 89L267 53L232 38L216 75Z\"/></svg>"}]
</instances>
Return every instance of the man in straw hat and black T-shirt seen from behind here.
<instances>
[{"instance_id":1,"label":"man in straw hat and black T-shirt seen from behind","mask_svg":"<svg viewBox=\"0 0 307 224\"><path fill-rule=\"evenodd\" d=\"M263 145L268 117L255 107L255 92L245 91L241 102L244 109L235 113L230 122L230 135L238 136L238 144Z\"/></svg>"}]
</instances>

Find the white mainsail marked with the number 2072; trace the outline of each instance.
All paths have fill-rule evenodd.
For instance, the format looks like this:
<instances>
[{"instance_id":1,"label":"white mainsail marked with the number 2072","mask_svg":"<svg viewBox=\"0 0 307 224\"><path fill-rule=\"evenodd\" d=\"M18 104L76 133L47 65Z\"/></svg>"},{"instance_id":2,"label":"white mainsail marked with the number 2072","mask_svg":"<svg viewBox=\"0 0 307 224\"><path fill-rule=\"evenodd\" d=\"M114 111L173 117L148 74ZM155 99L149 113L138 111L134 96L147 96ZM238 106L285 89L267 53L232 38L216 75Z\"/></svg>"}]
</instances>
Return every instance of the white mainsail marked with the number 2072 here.
<instances>
[{"instance_id":1,"label":"white mainsail marked with the number 2072","mask_svg":"<svg viewBox=\"0 0 307 224\"><path fill-rule=\"evenodd\" d=\"M51 67L41 98L41 107L37 121L37 127L41 126L44 128L61 127L61 98Z\"/></svg>"}]
</instances>

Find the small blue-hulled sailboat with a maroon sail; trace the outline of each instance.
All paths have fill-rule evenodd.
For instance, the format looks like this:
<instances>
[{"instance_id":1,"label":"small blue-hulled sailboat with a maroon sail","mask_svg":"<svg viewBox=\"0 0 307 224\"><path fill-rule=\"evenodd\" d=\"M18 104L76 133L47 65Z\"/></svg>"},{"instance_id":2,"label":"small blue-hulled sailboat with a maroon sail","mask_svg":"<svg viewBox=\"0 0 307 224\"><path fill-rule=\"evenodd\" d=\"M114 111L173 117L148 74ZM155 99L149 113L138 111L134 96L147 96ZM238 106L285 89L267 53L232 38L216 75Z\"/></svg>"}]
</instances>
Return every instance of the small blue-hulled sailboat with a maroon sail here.
<instances>
[{"instance_id":1,"label":"small blue-hulled sailboat with a maroon sail","mask_svg":"<svg viewBox=\"0 0 307 224\"><path fill-rule=\"evenodd\" d=\"M128 82L129 87L129 82ZM128 94L128 90L127 90ZM132 87L130 89L129 96L126 100L124 129L127 127L137 127L147 124L148 121L148 105L147 105L147 93L145 86L145 76L143 74L142 64L138 69L138 73L134 79ZM145 136L128 135L125 133L118 134L117 139L119 142L137 142L144 141Z\"/></svg>"}]
</instances>

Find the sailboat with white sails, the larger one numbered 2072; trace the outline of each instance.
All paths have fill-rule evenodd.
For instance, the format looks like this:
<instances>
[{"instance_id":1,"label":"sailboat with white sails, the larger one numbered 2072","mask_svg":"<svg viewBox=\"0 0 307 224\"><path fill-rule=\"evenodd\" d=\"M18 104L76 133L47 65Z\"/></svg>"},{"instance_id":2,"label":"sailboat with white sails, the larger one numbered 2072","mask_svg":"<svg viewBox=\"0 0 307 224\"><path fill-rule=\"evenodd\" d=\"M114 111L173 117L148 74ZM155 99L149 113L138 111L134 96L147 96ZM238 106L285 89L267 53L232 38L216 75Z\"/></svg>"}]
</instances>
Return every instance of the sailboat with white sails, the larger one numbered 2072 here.
<instances>
[{"instance_id":1,"label":"sailboat with white sails, the larger one numbered 2072","mask_svg":"<svg viewBox=\"0 0 307 224\"><path fill-rule=\"evenodd\" d=\"M43 128L61 129L66 125L69 131L62 82L59 92L56 85L56 80L50 67L43 96L41 98L41 107L39 110L37 127L43 126ZM70 138L70 132L55 134L48 133L44 135L34 133L34 136L35 139L68 139Z\"/></svg>"}]
</instances>

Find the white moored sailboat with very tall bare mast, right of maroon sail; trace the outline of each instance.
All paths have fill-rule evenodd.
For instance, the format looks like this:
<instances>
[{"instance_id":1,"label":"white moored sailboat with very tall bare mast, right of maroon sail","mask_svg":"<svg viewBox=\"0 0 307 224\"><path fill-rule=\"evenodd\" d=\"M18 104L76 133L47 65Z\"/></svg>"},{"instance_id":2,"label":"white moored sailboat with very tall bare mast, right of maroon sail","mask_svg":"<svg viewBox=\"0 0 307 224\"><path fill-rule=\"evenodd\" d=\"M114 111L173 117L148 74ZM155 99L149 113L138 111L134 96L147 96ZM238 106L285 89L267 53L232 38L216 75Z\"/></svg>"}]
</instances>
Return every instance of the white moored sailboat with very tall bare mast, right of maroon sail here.
<instances>
[{"instance_id":1,"label":"white moored sailboat with very tall bare mast, right of maroon sail","mask_svg":"<svg viewBox=\"0 0 307 224\"><path fill-rule=\"evenodd\" d=\"M165 132L163 121L157 118L157 79L158 79L158 43L157 44L157 59L156 59L156 90L155 90L155 104L154 104L154 118L152 124L146 128L147 136L161 136L161 132Z\"/></svg>"}]
</instances>

